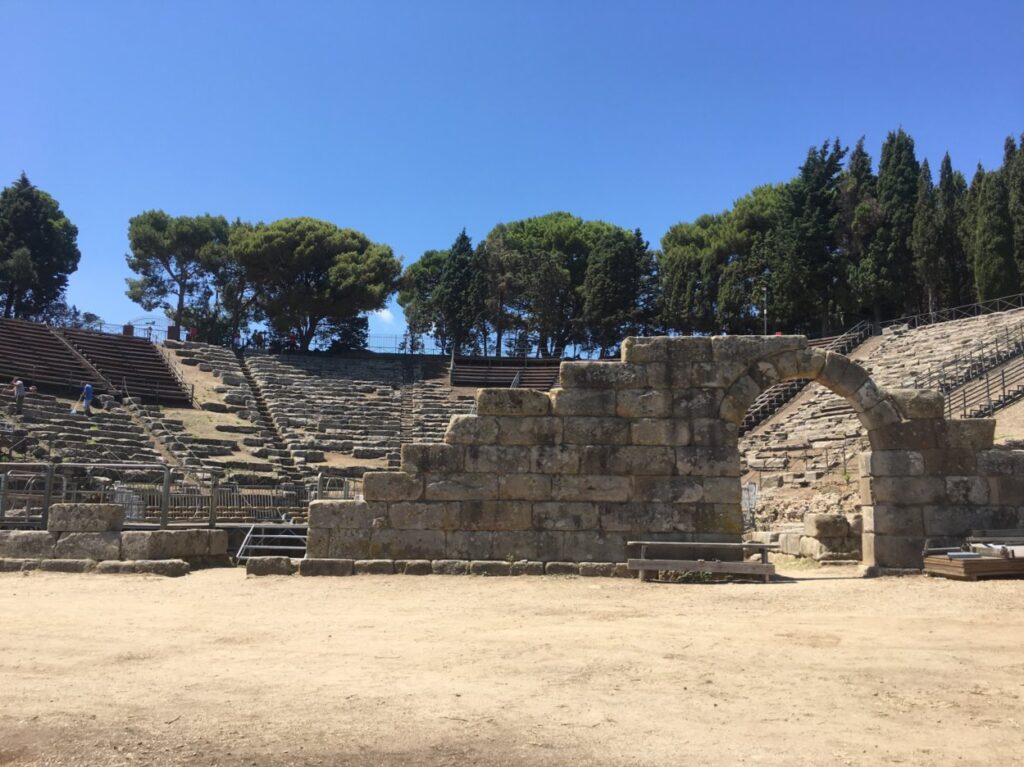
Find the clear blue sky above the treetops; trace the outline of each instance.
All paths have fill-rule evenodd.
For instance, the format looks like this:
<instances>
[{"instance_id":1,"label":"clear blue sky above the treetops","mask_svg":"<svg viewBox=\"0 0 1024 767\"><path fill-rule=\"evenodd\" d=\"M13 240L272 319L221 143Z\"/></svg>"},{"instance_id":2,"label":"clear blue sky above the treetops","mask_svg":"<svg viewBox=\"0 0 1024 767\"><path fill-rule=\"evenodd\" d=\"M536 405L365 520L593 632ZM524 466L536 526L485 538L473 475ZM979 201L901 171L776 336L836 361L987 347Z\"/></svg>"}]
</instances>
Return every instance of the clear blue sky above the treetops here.
<instances>
[{"instance_id":1,"label":"clear blue sky above the treetops","mask_svg":"<svg viewBox=\"0 0 1024 767\"><path fill-rule=\"evenodd\" d=\"M144 313L124 254L152 208L321 217L406 263L553 210L656 245L830 136L998 165L1022 33L1020 0L0 0L0 183L59 201L69 299L108 322Z\"/></svg>"}]
</instances>

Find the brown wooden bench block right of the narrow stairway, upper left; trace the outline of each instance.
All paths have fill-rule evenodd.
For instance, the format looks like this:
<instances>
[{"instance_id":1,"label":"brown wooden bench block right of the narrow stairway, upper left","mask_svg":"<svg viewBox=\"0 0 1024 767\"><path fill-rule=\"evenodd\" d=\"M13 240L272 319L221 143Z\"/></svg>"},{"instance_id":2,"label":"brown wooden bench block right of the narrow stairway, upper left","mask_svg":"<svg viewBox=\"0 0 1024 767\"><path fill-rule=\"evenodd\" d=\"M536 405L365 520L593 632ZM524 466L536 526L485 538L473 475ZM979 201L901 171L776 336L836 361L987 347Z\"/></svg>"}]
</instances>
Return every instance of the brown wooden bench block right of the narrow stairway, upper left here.
<instances>
[{"instance_id":1,"label":"brown wooden bench block right of the narrow stairway, upper left","mask_svg":"<svg viewBox=\"0 0 1024 767\"><path fill-rule=\"evenodd\" d=\"M190 397L160 350L144 338L59 331L116 388L146 402L187 407Z\"/></svg>"}]
</instances>

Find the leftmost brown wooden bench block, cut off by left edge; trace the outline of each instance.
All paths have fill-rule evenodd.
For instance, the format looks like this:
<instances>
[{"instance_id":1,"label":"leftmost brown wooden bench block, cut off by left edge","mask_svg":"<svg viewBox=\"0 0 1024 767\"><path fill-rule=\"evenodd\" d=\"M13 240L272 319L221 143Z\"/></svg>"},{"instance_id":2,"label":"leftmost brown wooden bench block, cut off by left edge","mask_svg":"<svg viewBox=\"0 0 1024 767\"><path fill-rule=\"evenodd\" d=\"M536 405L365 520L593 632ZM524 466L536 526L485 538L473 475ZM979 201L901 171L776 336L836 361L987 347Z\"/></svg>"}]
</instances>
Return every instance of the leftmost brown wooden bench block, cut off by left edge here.
<instances>
[{"instance_id":1,"label":"leftmost brown wooden bench block, cut off by left edge","mask_svg":"<svg viewBox=\"0 0 1024 767\"><path fill-rule=\"evenodd\" d=\"M91 381L92 371L45 325L0 319L0 383L14 377L43 391L70 394ZM94 382L97 392L103 387Z\"/></svg>"}]
</instances>

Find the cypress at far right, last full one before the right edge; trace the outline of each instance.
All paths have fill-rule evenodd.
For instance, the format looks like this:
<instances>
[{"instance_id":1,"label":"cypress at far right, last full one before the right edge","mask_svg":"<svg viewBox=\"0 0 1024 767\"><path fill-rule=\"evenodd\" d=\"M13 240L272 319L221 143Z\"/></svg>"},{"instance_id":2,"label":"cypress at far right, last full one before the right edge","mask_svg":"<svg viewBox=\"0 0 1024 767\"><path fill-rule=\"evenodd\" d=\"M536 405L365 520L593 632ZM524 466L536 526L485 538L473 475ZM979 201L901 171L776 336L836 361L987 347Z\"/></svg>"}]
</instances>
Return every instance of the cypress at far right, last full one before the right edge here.
<instances>
[{"instance_id":1,"label":"cypress at far right, last full one before the right edge","mask_svg":"<svg viewBox=\"0 0 1024 767\"><path fill-rule=\"evenodd\" d=\"M1014 260L1013 226L1002 173L986 173L974 213L974 276L978 300L987 301L1020 290Z\"/></svg>"}]
</instances>

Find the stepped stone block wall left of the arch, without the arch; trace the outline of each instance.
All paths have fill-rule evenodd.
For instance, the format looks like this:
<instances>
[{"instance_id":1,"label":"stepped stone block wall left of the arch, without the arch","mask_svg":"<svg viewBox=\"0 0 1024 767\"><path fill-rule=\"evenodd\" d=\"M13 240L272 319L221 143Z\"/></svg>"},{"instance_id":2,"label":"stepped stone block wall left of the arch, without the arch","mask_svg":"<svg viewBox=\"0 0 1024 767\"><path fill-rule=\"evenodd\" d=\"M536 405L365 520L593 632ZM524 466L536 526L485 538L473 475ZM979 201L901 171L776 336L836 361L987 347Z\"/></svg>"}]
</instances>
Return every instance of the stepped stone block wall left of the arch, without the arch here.
<instances>
[{"instance_id":1,"label":"stepped stone block wall left of the arch, without the arch","mask_svg":"<svg viewBox=\"0 0 1024 767\"><path fill-rule=\"evenodd\" d=\"M406 444L364 501L310 505L307 557L622 561L631 539L737 541L726 390L802 337L631 338L550 392L481 389L443 443ZM754 375L758 375L755 370Z\"/></svg>"}]
</instances>

